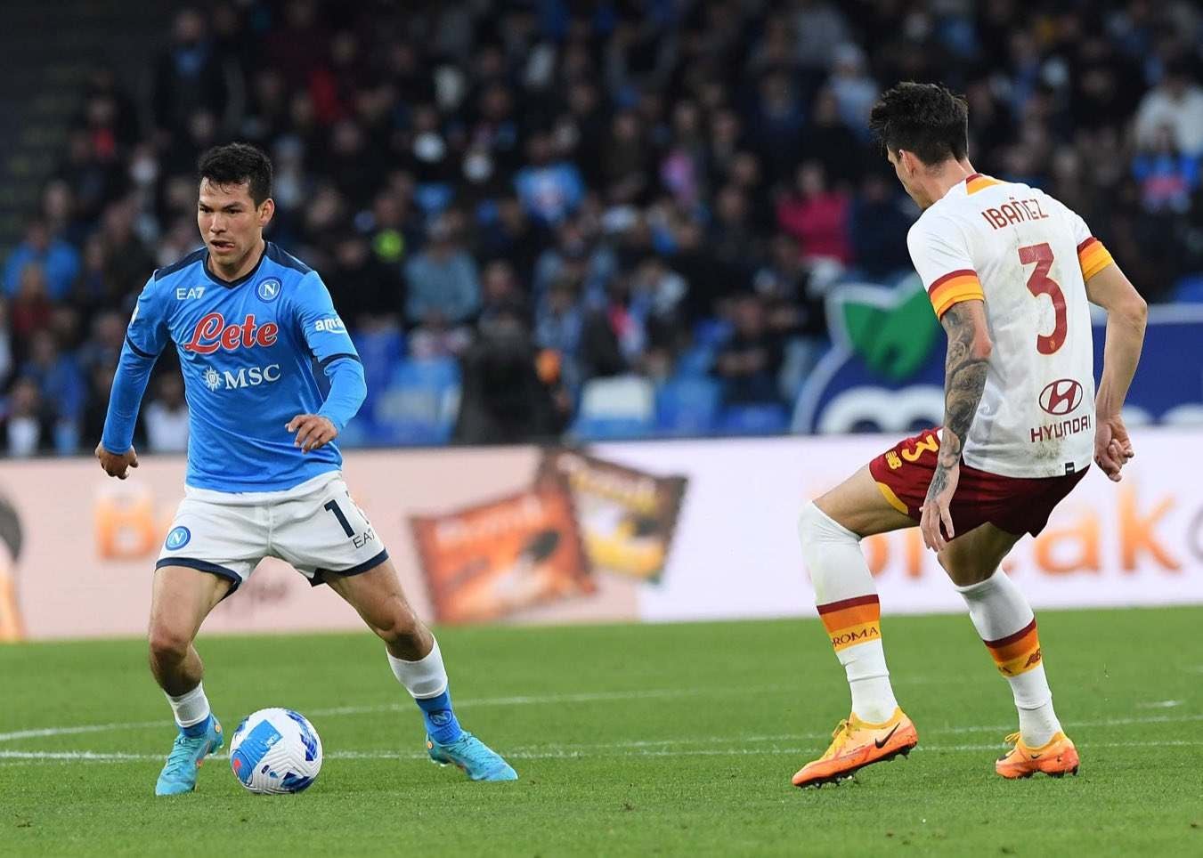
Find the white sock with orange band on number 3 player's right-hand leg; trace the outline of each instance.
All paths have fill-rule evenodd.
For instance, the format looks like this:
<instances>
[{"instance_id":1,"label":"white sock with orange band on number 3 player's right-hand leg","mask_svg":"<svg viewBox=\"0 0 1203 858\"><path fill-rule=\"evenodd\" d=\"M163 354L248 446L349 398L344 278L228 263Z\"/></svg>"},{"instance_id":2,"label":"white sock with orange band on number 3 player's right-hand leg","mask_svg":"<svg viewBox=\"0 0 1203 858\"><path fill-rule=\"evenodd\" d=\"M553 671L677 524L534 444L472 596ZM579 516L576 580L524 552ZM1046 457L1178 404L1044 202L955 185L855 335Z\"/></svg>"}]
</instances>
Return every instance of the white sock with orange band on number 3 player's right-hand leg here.
<instances>
[{"instance_id":1,"label":"white sock with orange band on number 3 player's right-hand leg","mask_svg":"<svg viewBox=\"0 0 1203 858\"><path fill-rule=\"evenodd\" d=\"M965 598L973 626L998 672L1011 684L1024 744L1039 747L1061 729L1061 723L1053 711L1053 692L1044 675L1036 618L1027 600L1002 570L956 591Z\"/></svg>"}]
</instances>

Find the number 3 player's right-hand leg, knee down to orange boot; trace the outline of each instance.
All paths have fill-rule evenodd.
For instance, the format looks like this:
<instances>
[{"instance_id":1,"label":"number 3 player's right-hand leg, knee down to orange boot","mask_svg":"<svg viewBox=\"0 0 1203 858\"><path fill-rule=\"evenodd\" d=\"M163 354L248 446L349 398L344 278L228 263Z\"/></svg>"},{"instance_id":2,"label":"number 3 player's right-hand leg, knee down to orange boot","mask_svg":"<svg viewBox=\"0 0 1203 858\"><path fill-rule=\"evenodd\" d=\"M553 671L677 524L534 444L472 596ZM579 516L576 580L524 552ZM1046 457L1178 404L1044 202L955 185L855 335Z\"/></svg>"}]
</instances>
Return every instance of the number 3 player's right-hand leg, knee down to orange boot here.
<instances>
[{"instance_id":1,"label":"number 3 player's right-hand leg, knee down to orange boot","mask_svg":"<svg viewBox=\"0 0 1203 858\"><path fill-rule=\"evenodd\" d=\"M938 554L940 565L965 598L1019 713L1015 749L998 761L997 771L1009 777L1075 771L1078 753L1053 709L1036 616L1019 585L1000 568L1019 540L986 523L949 542Z\"/></svg>"}]
</instances>

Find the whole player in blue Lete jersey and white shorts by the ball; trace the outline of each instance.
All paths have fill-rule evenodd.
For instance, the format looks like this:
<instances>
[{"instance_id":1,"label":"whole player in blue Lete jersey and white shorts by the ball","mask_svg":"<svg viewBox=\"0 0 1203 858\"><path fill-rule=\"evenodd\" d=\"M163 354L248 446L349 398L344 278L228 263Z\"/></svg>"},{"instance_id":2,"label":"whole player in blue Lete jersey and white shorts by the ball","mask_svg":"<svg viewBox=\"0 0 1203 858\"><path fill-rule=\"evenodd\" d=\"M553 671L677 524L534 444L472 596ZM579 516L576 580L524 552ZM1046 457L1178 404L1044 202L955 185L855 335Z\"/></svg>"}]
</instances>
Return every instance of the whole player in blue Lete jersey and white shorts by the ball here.
<instances>
[{"instance_id":1,"label":"whole player in blue Lete jersey and white shorts by the ball","mask_svg":"<svg viewBox=\"0 0 1203 858\"><path fill-rule=\"evenodd\" d=\"M263 240L271 190L271 161L251 145L201 156L205 248L156 270L142 290L96 447L111 477L125 479L138 466L138 405L155 359L174 344L188 397L188 475L155 564L149 644L179 734L155 793L192 791L201 761L225 741L192 640L266 556L328 584L380 636L421 709L431 759L472 780L516 780L460 727L438 642L343 482L333 441L363 401L363 369L318 273ZM330 381L325 400L314 364Z\"/></svg>"}]
</instances>

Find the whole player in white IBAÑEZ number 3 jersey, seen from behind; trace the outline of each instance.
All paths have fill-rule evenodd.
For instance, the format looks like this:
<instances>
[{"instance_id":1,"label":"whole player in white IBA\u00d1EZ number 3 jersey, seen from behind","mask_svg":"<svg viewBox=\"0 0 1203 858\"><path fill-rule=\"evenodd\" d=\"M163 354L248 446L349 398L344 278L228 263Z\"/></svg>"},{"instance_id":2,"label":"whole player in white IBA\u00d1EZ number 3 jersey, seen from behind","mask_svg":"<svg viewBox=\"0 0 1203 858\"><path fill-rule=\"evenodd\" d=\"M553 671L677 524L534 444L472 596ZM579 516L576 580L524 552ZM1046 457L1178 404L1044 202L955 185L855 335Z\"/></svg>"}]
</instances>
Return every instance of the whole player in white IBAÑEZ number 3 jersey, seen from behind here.
<instances>
[{"instance_id":1,"label":"whole player in white IBA\u00d1EZ number 3 jersey, seen from behind","mask_svg":"<svg viewBox=\"0 0 1203 858\"><path fill-rule=\"evenodd\" d=\"M1011 684L1019 731L995 770L1077 773L1036 619L1000 564L1024 534L1044 528L1091 458L1119 482L1133 455L1120 410L1146 306L1081 218L1038 189L973 169L962 97L902 83L881 97L870 124L923 209L907 246L948 334L944 421L802 510L802 556L852 714L793 782L848 777L918 743L890 687L877 590L859 546L917 524ZM1088 302L1107 310L1097 392Z\"/></svg>"}]
</instances>

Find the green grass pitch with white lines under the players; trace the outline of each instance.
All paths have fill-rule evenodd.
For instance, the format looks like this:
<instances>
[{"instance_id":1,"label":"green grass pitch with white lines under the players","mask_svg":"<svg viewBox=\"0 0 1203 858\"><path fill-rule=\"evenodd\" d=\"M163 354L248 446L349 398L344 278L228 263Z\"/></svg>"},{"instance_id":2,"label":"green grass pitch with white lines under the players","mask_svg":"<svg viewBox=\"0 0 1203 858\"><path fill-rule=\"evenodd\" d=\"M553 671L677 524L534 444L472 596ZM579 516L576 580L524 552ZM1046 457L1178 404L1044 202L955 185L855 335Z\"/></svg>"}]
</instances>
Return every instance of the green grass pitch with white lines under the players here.
<instances>
[{"instance_id":1,"label":"green grass pitch with white lines under the players","mask_svg":"<svg viewBox=\"0 0 1203 858\"><path fill-rule=\"evenodd\" d=\"M1012 782L992 768L1011 693L968 619L887 616L919 747L808 791L789 777L848 707L816 620L440 631L461 720L522 777L498 785L425 761L367 633L202 636L227 733L268 705L318 727L321 775L290 797L244 792L224 758L196 793L152 794L173 729L142 642L0 648L0 853L1199 854L1201 619L1042 612L1081 773ZM82 725L119 726L8 735ZM134 758L16 756L82 751Z\"/></svg>"}]
</instances>

